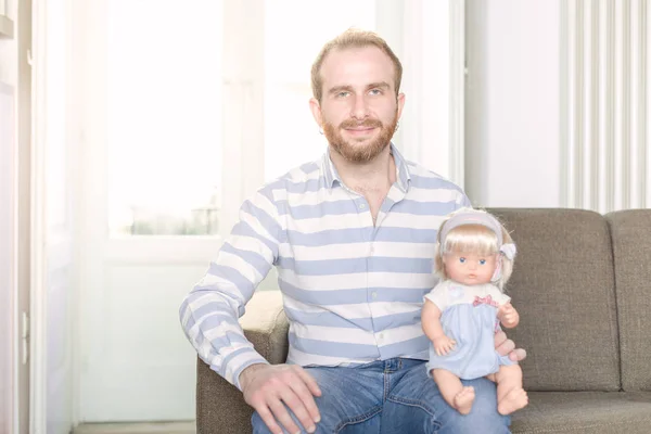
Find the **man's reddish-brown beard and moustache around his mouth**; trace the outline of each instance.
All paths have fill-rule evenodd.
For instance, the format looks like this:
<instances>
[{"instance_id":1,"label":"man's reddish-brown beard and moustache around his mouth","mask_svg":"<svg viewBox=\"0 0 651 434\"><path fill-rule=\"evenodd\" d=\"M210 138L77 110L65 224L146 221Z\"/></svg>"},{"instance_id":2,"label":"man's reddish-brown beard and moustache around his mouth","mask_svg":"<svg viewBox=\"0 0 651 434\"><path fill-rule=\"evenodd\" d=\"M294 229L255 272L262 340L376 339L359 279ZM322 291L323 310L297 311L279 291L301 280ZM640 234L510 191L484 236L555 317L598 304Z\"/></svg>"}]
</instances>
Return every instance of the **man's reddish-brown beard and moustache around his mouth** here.
<instances>
[{"instance_id":1,"label":"man's reddish-brown beard and moustache around his mouth","mask_svg":"<svg viewBox=\"0 0 651 434\"><path fill-rule=\"evenodd\" d=\"M328 142L332 149L334 149L345 159L349 161L350 163L368 163L380 155L382 151L388 146L391 143L391 138L393 137L394 132L396 132L397 124L398 114L396 111L396 116L387 126L378 119L366 119L361 123L358 123L354 119L347 119L341 123L339 128L327 122L323 123L323 135L326 135L326 139L328 139ZM358 145L355 143L355 139L346 141L341 133L342 129L355 127L380 128L380 135L378 135L378 137L372 139L369 143L366 143L365 145ZM363 140L366 140L366 138ZM361 141L362 140L359 140L359 142Z\"/></svg>"}]
</instances>

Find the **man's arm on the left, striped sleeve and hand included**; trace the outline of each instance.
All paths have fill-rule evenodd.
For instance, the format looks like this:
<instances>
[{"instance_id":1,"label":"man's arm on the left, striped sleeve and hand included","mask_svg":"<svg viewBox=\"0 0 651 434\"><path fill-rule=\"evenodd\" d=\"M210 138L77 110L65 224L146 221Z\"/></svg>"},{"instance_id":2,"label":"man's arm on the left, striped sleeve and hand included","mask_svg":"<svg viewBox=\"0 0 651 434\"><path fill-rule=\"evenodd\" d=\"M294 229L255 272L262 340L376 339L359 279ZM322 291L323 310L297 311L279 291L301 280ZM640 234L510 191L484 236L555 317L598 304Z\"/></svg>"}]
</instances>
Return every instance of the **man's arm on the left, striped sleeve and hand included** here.
<instances>
[{"instance_id":1,"label":"man's arm on the left, striped sleeve and hand included","mask_svg":"<svg viewBox=\"0 0 651 434\"><path fill-rule=\"evenodd\" d=\"M321 394L316 381L298 366L269 365L238 322L244 305L278 258L280 233L270 193L258 191L242 205L240 221L183 301L179 315L201 359L242 391L244 400L271 432L282 433L277 421L292 433L298 431L283 403L306 431L314 432L320 416L312 395Z\"/></svg>"}]
</instances>

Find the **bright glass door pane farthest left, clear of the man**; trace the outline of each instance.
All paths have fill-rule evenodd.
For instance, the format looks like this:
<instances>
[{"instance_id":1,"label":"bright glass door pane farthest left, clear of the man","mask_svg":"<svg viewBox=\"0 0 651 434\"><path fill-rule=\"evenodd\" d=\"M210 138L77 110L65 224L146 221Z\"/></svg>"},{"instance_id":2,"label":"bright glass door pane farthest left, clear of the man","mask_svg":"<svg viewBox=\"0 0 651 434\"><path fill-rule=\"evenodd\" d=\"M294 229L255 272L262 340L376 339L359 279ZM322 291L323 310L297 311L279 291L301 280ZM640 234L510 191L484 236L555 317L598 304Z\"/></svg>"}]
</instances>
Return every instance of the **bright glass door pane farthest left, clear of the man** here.
<instances>
[{"instance_id":1,"label":"bright glass door pane farthest left, clear of the man","mask_svg":"<svg viewBox=\"0 0 651 434\"><path fill-rule=\"evenodd\" d=\"M107 4L111 233L216 234L221 2Z\"/></svg>"}]
</instances>

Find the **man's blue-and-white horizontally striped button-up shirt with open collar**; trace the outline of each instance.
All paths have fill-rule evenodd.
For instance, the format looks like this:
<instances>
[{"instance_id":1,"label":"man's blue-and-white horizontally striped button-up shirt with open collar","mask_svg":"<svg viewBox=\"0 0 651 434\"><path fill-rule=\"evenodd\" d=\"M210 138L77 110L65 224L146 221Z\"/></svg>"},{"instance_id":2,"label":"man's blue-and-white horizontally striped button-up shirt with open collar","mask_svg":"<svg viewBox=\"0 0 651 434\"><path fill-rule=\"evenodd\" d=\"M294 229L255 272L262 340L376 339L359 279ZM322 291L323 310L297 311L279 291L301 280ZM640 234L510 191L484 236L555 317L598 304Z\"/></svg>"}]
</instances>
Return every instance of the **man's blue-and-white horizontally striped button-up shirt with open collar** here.
<instances>
[{"instance_id":1,"label":"man's blue-and-white horizontally striped button-up shirt with open collar","mask_svg":"<svg viewBox=\"0 0 651 434\"><path fill-rule=\"evenodd\" d=\"M436 284L434 244L443 218L470 201L392 145L396 182L375 226L363 195L347 188L326 152L266 184L180 308L183 330L213 370L239 375L267 362L238 318L272 266L290 321L289 363L355 366L427 359L420 323Z\"/></svg>"}]
</instances>

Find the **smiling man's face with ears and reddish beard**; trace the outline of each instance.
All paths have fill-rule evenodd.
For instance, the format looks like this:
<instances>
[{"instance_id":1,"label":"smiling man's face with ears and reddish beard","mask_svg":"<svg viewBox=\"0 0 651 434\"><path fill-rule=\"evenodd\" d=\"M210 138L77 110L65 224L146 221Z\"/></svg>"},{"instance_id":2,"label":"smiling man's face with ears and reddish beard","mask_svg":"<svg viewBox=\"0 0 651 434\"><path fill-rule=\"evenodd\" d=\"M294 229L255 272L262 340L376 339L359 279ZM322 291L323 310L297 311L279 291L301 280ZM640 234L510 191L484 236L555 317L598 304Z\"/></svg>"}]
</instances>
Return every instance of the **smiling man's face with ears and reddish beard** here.
<instances>
[{"instance_id":1,"label":"smiling man's face with ears and reddish beard","mask_svg":"<svg viewBox=\"0 0 651 434\"><path fill-rule=\"evenodd\" d=\"M328 142L349 162L373 159L388 145L405 103L391 59L376 47L333 50L320 74L323 97L310 107Z\"/></svg>"}]
</instances>

